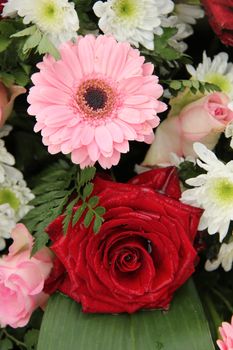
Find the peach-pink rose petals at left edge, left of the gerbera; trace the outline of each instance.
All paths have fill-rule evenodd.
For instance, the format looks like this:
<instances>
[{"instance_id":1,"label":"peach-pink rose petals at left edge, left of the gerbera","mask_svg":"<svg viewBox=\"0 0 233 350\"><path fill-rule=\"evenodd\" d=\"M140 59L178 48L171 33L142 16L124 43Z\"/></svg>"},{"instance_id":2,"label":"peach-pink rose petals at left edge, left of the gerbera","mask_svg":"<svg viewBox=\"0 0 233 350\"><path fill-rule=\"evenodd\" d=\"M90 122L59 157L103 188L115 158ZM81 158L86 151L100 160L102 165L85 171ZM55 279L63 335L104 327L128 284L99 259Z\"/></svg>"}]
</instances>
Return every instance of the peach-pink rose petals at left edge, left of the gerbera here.
<instances>
[{"instance_id":1,"label":"peach-pink rose petals at left edge, left of the gerbera","mask_svg":"<svg viewBox=\"0 0 233 350\"><path fill-rule=\"evenodd\" d=\"M10 116L16 97L24 94L25 92L26 89L22 86L12 85L7 88L0 81L0 128L5 124L7 118Z\"/></svg>"}]
</instances>

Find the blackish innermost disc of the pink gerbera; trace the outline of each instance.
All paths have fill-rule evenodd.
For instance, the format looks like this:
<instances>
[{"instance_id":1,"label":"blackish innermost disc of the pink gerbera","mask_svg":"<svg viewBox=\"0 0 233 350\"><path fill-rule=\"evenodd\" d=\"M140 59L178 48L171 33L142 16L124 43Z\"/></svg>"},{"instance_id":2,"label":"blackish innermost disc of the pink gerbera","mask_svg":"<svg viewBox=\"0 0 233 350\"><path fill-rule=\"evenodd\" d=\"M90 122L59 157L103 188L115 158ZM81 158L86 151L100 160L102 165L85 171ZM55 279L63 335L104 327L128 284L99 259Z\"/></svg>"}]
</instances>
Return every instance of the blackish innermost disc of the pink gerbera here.
<instances>
[{"instance_id":1,"label":"blackish innermost disc of the pink gerbera","mask_svg":"<svg viewBox=\"0 0 233 350\"><path fill-rule=\"evenodd\" d=\"M84 94L87 105L94 111L103 109L107 102L107 94L104 90L98 87L90 87Z\"/></svg>"}]
</instances>

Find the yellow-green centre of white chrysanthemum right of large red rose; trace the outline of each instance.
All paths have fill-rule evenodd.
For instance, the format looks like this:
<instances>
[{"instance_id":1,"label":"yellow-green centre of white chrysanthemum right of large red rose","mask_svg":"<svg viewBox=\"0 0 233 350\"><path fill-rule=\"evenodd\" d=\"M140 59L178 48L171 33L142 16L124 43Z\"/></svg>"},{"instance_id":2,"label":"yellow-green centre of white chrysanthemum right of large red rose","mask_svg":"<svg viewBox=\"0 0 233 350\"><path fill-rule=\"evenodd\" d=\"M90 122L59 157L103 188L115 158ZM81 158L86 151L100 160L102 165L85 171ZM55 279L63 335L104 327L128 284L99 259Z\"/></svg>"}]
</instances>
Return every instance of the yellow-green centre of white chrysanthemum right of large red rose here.
<instances>
[{"instance_id":1,"label":"yellow-green centre of white chrysanthemum right of large red rose","mask_svg":"<svg viewBox=\"0 0 233 350\"><path fill-rule=\"evenodd\" d=\"M222 205L233 204L233 182L226 178L215 179L211 184L214 199Z\"/></svg>"}]
</instances>

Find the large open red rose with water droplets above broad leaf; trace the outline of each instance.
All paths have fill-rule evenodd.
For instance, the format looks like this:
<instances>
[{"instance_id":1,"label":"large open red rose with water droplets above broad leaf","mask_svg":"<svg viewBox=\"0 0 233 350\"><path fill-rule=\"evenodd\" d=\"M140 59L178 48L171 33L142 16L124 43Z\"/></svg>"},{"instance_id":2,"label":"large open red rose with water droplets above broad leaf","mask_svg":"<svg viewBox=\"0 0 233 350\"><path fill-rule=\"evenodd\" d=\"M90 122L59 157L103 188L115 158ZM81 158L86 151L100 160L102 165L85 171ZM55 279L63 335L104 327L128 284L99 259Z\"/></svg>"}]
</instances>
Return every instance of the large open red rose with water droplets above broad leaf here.
<instances>
[{"instance_id":1,"label":"large open red rose with water droplets above broad leaf","mask_svg":"<svg viewBox=\"0 0 233 350\"><path fill-rule=\"evenodd\" d=\"M57 259L46 291L59 289L81 302L84 312L168 308L194 271L201 210L179 202L174 168L149 171L129 184L94 183L105 221L96 235L83 218L66 236L62 216L50 224Z\"/></svg>"}]
</instances>

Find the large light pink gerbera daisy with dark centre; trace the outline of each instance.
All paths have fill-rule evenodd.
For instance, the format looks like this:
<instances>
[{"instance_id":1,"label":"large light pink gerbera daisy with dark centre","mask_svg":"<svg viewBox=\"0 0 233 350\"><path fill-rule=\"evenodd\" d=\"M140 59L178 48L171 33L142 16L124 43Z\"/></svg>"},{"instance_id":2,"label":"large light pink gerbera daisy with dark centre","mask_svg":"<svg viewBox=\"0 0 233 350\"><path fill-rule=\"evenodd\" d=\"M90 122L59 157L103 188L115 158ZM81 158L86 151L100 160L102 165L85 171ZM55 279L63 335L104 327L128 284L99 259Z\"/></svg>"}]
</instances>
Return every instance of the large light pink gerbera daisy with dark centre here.
<instances>
[{"instance_id":1,"label":"large light pink gerbera daisy with dark centre","mask_svg":"<svg viewBox=\"0 0 233 350\"><path fill-rule=\"evenodd\" d=\"M128 43L87 35L45 56L32 76L28 113L52 154L71 153L81 168L110 168L129 150L129 140L153 141L163 88L153 65Z\"/></svg>"}]
</instances>

